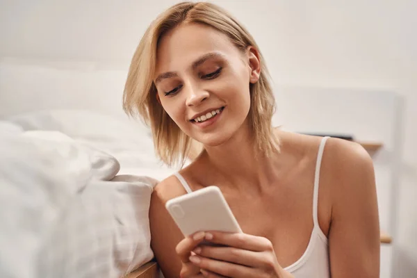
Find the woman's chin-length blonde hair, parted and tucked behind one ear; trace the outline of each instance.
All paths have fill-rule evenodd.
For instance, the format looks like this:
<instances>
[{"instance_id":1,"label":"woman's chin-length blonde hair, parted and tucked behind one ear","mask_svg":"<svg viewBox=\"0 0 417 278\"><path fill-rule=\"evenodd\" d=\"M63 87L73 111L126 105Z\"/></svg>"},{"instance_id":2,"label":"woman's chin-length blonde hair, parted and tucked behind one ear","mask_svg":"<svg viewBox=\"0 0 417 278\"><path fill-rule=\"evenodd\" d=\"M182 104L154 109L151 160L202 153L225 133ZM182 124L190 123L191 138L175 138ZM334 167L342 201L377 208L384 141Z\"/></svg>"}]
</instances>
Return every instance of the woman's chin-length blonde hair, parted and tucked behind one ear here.
<instances>
[{"instance_id":1,"label":"woman's chin-length blonde hair, parted and tucked behind one ear","mask_svg":"<svg viewBox=\"0 0 417 278\"><path fill-rule=\"evenodd\" d=\"M156 68L156 50L160 38L179 24L205 24L224 33L241 51L252 46L258 49L254 38L236 19L213 3L183 2L168 8L147 28L131 60L123 95L123 108L127 114L136 113L151 126L156 154L167 165L186 161L195 152L193 140L163 110L156 98L153 81ZM268 70L259 52L261 74L259 81L250 84L251 104L248 120L256 147L267 155L279 151L279 140L273 136L272 115L275 97L268 81Z\"/></svg>"}]
</instances>

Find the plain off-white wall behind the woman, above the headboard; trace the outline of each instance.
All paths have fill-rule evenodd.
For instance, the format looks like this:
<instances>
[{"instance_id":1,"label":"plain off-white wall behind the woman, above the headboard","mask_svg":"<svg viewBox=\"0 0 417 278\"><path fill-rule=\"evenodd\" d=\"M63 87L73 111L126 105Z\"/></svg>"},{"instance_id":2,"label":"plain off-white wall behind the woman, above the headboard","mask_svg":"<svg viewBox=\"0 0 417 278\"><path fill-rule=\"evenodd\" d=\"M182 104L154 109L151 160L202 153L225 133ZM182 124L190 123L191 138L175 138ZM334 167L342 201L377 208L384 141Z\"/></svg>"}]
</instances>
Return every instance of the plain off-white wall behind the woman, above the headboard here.
<instances>
[{"instance_id":1,"label":"plain off-white wall behind the woman, above the headboard","mask_svg":"<svg viewBox=\"0 0 417 278\"><path fill-rule=\"evenodd\" d=\"M174 2L1 0L0 57L126 70L147 24ZM402 96L392 277L416 277L417 1L215 2L253 33L276 83Z\"/></svg>"}]
</instances>

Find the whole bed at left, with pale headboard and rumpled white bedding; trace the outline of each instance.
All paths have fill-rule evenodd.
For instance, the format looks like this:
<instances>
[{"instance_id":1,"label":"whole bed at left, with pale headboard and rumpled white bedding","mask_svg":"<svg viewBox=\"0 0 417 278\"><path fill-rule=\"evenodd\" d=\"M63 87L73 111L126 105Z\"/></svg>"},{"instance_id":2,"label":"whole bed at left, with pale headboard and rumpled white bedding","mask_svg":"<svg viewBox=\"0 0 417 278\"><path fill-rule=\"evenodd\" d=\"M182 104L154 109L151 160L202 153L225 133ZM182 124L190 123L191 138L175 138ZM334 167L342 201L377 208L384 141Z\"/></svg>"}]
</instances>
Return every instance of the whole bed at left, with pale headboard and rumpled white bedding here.
<instances>
[{"instance_id":1,"label":"whole bed at left, with pale headboard and rumpled white bedding","mask_svg":"<svg viewBox=\"0 0 417 278\"><path fill-rule=\"evenodd\" d=\"M158 276L150 195L176 169L124 115L125 76L0 61L0 277Z\"/></svg>"}]
</instances>

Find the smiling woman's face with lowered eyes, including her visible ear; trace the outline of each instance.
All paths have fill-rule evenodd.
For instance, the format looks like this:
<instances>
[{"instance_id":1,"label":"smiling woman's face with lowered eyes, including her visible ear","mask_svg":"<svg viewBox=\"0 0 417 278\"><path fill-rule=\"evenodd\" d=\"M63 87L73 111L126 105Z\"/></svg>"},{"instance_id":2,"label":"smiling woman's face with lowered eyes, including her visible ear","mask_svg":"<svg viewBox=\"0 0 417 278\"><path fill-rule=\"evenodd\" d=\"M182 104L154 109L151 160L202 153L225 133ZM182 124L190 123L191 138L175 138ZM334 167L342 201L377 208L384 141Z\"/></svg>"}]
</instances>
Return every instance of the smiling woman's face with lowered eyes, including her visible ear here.
<instances>
[{"instance_id":1,"label":"smiling woman's face with lowered eyes, including her visible ear","mask_svg":"<svg viewBox=\"0 0 417 278\"><path fill-rule=\"evenodd\" d=\"M161 38L154 82L164 110L204 145L226 142L250 110L250 83L259 79L256 49L242 53L226 35L181 24Z\"/></svg>"}]
</instances>

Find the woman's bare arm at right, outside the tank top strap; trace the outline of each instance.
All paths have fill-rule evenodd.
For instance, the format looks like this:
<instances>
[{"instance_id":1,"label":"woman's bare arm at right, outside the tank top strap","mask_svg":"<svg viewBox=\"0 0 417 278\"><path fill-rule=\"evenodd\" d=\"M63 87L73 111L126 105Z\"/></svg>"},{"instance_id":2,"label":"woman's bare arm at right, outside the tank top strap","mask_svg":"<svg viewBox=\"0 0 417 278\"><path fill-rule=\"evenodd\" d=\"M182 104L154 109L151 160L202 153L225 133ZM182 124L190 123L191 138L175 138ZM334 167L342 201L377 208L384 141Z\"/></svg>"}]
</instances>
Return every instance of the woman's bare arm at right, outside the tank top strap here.
<instances>
[{"instance_id":1,"label":"woman's bare arm at right, outside the tank top strap","mask_svg":"<svg viewBox=\"0 0 417 278\"><path fill-rule=\"evenodd\" d=\"M373 161L360 145L334 140L332 222L329 259L332 277L379 277L379 214Z\"/></svg>"}]
</instances>

